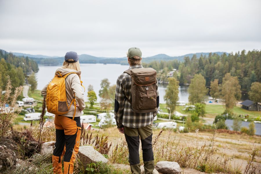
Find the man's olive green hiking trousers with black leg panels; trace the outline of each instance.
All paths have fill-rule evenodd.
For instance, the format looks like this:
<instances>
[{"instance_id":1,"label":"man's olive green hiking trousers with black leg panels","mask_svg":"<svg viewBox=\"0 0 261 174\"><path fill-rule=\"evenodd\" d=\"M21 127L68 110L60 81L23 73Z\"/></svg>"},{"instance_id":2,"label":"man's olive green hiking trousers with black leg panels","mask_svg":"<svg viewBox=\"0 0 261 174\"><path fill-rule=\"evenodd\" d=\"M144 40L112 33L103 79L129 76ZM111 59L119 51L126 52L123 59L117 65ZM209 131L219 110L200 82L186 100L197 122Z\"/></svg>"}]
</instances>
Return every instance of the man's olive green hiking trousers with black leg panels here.
<instances>
[{"instance_id":1,"label":"man's olive green hiking trousers with black leg panels","mask_svg":"<svg viewBox=\"0 0 261 174\"><path fill-rule=\"evenodd\" d=\"M152 151L152 124L141 128L124 126L124 135L128 144L129 163L133 174L140 174L139 139L142 143L142 158L145 174L152 174L154 170L154 156Z\"/></svg>"}]
</instances>

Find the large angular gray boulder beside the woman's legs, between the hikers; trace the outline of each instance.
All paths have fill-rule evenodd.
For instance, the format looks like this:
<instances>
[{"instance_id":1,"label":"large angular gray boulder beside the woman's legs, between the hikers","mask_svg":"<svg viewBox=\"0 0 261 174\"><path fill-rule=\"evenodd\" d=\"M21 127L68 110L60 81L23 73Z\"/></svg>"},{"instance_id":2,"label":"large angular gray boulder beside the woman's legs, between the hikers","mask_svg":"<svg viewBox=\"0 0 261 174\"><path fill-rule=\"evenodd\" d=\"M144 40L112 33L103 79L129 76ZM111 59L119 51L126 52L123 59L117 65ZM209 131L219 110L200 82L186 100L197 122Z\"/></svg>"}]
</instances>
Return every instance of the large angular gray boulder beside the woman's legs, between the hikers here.
<instances>
[{"instance_id":1,"label":"large angular gray boulder beside the woman's legs, between the hikers","mask_svg":"<svg viewBox=\"0 0 261 174\"><path fill-rule=\"evenodd\" d=\"M92 146L80 146L78 155L84 166L87 166L87 164L93 162L108 162L108 160L102 154L96 151Z\"/></svg>"}]
</instances>

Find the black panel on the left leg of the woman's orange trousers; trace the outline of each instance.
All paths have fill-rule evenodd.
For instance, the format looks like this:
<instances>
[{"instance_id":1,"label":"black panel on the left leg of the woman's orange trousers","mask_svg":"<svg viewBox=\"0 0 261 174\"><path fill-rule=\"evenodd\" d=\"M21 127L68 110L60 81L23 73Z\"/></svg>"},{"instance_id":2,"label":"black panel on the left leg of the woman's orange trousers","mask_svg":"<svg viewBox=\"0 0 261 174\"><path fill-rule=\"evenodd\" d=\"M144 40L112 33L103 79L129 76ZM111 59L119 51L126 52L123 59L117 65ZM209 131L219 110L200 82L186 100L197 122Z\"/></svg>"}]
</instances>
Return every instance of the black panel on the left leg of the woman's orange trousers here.
<instances>
[{"instance_id":1,"label":"black panel on the left leg of the woman's orange trousers","mask_svg":"<svg viewBox=\"0 0 261 174\"><path fill-rule=\"evenodd\" d=\"M65 145L65 135L63 129L56 129L56 142L55 142L55 148L53 150L53 155L59 157L63 153L64 145Z\"/></svg>"}]
</instances>

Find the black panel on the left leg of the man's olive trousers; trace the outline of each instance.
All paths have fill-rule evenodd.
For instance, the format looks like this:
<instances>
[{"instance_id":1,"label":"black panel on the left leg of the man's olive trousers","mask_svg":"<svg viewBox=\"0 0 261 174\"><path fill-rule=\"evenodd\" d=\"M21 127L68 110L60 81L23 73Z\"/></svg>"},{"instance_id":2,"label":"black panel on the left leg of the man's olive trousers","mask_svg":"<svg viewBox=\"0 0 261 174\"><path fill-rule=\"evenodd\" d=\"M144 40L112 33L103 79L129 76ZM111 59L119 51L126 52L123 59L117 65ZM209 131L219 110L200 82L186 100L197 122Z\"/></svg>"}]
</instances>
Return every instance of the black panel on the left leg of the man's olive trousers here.
<instances>
[{"instance_id":1,"label":"black panel on the left leg of the man's olive trousers","mask_svg":"<svg viewBox=\"0 0 261 174\"><path fill-rule=\"evenodd\" d=\"M125 134L129 149L130 165L139 164L139 136L131 137Z\"/></svg>"}]
</instances>

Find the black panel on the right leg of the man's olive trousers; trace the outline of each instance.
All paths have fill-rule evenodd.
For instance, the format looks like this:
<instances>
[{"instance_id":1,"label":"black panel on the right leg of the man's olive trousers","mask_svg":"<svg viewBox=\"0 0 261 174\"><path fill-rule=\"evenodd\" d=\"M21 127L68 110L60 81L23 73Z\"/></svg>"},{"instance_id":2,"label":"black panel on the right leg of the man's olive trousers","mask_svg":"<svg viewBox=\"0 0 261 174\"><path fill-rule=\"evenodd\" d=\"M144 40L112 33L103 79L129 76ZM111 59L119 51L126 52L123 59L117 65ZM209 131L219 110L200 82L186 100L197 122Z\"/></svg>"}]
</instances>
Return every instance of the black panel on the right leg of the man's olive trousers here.
<instances>
[{"instance_id":1,"label":"black panel on the right leg of the man's olive trousers","mask_svg":"<svg viewBox=\"0 0 261 174\"><path fill-rule=\"evenodd\" d=\"M152 150L152 134L145 139L141 139L141 142L142 142L143 161L154 160L153 150Z\"/></svg>"}]
</instances>

